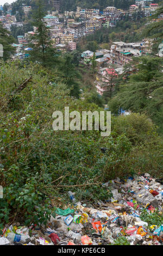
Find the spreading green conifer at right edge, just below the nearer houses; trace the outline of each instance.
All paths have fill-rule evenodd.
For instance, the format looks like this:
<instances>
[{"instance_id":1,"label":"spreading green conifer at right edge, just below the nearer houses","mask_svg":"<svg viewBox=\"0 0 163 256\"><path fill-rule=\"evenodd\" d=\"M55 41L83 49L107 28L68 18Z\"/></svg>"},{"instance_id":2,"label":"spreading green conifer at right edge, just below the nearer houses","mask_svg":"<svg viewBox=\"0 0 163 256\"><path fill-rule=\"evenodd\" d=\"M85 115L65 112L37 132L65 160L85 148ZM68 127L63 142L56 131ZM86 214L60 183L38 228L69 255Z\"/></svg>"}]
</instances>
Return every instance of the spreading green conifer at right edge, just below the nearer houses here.
<instances>
[{"instance_id":1,"label":"spreading green conifer at right edge, just below the nearer houses","mask_svg":"<svg viewBox=\"0 0 163 256\"><path fill-rule=\"evenodd\" d=\"M162 59L159 57L136 58L137 74L131 75L120 92L109 102L131 112L146 113L158 124L163 125L163 75ZM114 109L110 109L114 112Z\"/></svg>"}]
</instances>

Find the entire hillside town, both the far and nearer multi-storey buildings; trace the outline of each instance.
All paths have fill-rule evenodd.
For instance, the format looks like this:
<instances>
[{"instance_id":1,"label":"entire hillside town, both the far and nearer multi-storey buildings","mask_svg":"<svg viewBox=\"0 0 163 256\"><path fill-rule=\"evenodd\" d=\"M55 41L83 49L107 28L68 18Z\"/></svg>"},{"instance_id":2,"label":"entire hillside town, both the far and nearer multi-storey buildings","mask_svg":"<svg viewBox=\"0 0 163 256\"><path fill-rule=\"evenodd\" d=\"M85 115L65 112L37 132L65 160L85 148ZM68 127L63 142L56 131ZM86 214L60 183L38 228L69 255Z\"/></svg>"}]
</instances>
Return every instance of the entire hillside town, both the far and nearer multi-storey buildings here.
<instances>
[{"instance_id":1,"label":"entire hillside town, both the far and nearer multi-storey buildings","mask_svg":"<svg viewBox=\"0 0 163 256\"><path fill-rule=\"evenodd\" d=\"M59 1L53 1L53 5L55 11L48 11L43 21L51 32L53 46L62 53L76 50L77 43L83 36L95 33L103 27L115 27L116 22L122 20L126 15L130 19L133 19L134 15L147 17L152 15L158 8L158 4L152 3L152 1L137 0L134 5L130 5L129 10L106 7L103 11L99 11L99 9L77 7L76 11L65 11L65 13L61 14L59 13ZM22 10L24 19L28 19L32 7L22 4ZM1 12L0 21L3 23L4 28L10 31L11 26L23 26L23 22L17 22L16 15L12 15L10 5L5 15L3 14L2 6ZM161 19L163 19L162 16L158 20ZM154 22L156 21L154 20ZM24 59L29 57L32 48L28 47L28 44L31 36L36 32L37 28L33 27L33 31L17 36L17 43L12 44L16 48L16 53L12 58ZM163 45L161 44L159 47L158 56L162 57ZM128 44L122 41L113 42L110 50L97 50L95 52L98 69L95 81L97 93L103 95L110 90L114 91L112 78L122 75L124 65L129 64L133 57L149 54L151 49L152 40L144 39L139 42L129 42ZM87 49L80 57L81 63L91 65L93 52Z\"/></svg>"}]
</instances>

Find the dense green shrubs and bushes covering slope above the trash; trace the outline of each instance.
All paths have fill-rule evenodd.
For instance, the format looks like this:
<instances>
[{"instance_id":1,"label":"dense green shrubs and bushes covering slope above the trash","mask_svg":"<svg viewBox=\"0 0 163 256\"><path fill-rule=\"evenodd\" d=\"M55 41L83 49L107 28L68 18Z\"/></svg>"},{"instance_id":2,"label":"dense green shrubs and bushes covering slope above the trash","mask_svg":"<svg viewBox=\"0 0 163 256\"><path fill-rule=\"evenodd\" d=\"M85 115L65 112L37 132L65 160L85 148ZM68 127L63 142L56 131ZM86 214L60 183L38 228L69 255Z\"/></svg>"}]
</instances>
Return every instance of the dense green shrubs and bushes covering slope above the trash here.
<instances>
[{"instance_id":1,"label":"dense green shrubs and bushes covering slope above the trash","mask_svg":"<svg viewBox=\"0 0 163 256\"><path fill-rule=\"evenodd\" d=\"M14 216L26 224L46 221L53 210L49 200L66 199L70 189L78 199L107 199L110 192L98 182L137 172L161 175L162 142L145 115L112 117L111 136L105 138L99 131L54 132L54 110L100 108L71 97L66 85L53 82L57 74L40 64L1 63L0 72L2 223ZM30 76L27 86L16 91ZM108 152L101 153L101 147Z\"/></svg>"}]
</instances>

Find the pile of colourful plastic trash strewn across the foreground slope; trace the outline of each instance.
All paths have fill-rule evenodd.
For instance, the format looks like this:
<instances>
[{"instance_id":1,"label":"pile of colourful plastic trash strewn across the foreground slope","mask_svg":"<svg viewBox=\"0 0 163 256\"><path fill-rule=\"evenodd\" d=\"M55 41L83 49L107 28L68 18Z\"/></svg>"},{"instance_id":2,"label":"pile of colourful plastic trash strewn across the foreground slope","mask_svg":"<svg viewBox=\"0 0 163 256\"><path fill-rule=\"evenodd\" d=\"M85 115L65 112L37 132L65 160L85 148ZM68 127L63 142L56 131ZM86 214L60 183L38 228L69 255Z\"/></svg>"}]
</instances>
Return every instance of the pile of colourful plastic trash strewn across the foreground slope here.
<instances>
[{"instance_id":1,"label":"pile of colourful plastic trash strewn across the foreground slope","mask_svg":"<svg viewBox=\"0 0 163 256\"><path fill-rule=\"evenodd\" d=\"M157 210L162 215L162 179L145 173L128 180L110 180L102 186L104 190L111 187L112 197L105 202L82 204L70 191L73 206L57 208L47 225L6 226L0 245L114 245L120 237L128 245L163 244L163 223L149 225L140 218L142 211L150 216Z\"/></svg>"}]
</instances>

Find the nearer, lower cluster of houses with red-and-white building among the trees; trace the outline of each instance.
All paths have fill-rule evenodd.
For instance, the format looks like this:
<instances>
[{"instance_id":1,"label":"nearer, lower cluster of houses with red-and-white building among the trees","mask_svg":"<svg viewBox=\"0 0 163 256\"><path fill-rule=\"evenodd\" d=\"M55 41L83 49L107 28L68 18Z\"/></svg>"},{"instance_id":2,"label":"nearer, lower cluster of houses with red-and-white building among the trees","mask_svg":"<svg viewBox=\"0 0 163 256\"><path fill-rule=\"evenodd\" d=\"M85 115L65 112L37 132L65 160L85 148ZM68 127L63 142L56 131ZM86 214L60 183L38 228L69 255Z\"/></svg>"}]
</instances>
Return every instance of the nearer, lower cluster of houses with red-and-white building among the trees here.
<instances>
[{"instance_id":1,"label":"nearer, lower cluster of houses with red-and-white building among the trees","mask_svg":"<svg viewBox=\"0 0 163 256\"><path fill-rule=\"evenodd\" d=\"M122 41L113 42L110 50L98 50L95 52L97 62L96 88L100 95L114 91L115 78L122 75L124 65L129 64L133 57L140 57L151 53L152 40L144 39L141 42L125 43ZM91 65L93 52L87 50L81 54L82 62ZM159 45L158 56L163 56L163 44ZM128 74L134 72L130 67Z\"/></svg>"}]
</instances>

